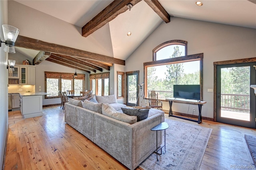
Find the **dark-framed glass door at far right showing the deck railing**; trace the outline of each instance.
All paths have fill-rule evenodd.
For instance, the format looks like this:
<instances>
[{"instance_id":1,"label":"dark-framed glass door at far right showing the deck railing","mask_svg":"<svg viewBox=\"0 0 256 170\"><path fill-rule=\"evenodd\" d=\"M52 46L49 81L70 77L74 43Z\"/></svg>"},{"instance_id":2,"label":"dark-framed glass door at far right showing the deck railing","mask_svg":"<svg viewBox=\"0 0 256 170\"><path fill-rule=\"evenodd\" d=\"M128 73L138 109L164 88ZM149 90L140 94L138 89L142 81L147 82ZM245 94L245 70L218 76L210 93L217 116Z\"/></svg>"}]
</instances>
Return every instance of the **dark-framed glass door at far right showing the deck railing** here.
<instances>
[{"instance_id":1,"label":"dark-framed glass door at far right showing the deck railing","mask_svg":"<svg viewBox=\"0 0 256 170\"><path fill-rule=\"evenodd\" d=\"M217 122L255 128L255 63L217 66Z\"/></svg>"}]
</instances>

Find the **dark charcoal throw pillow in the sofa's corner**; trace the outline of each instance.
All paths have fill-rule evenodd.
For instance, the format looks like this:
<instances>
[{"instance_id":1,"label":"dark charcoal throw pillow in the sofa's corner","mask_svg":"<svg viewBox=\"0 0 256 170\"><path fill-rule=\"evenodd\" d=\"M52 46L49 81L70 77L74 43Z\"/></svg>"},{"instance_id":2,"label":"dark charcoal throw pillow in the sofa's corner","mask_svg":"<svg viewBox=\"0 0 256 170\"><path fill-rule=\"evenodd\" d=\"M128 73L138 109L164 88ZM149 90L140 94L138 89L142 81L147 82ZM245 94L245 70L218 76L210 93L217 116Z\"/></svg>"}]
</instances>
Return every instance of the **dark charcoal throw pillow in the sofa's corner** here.
<instances>
[{"instance_id":1,"label":"dark charcoal throw pillow in the sofa's corner","mask_svg":"<svg viewBox=\"0 0 256 170\"><path fill-rule=\"evenodd\" d=\"M123 113L130 116L136 116L137 121L142 121L148 118L149 109L134 109L134 108L121 108Z\"/></svg>"}]
</instances>

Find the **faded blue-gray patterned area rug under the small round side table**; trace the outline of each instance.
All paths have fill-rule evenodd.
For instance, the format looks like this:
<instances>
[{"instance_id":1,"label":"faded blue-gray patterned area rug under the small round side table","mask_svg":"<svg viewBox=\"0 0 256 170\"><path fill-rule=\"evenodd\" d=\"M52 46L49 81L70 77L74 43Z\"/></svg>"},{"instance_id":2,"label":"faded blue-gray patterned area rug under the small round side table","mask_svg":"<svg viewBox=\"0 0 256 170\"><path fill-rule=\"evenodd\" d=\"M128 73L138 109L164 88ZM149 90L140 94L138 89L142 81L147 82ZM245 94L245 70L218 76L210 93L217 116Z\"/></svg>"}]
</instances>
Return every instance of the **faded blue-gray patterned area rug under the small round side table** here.
<instances>
[{"instance_id":1,"label":"faded blue-gray patterned area rug under the small round side table","mask_svg":"<svg viewBox=\"0 0 256 170\"><path fill-rule=\"evenodd\" d=\"M198 170L212 129L170 119L165 119L165 122L169 125L166 129L166 152L162 148L159 162L156 153L152 153L140 167L144 170ZM162 134L164 144L164 130Z\"/></svg>"}]
</instances>

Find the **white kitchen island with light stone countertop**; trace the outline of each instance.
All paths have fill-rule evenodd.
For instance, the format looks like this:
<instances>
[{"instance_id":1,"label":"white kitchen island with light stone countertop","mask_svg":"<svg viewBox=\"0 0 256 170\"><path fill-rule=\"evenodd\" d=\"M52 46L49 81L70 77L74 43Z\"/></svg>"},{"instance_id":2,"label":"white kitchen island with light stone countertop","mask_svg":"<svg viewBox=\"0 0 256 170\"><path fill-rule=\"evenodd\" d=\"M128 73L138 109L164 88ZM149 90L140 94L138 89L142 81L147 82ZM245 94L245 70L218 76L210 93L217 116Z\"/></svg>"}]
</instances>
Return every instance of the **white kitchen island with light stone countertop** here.
<instances>
[{"instance_id":1,"label":"white kitchen island with light stone countertop","mask_svg":"<svg viewBox=\"0 0 256 170\"><path fill-rule=\"evenodd\" d=\"M20 111L24 118L38 117L43 115L43 95L47 95L47 93L20 93Z\"/></svg>"}]
</instances>

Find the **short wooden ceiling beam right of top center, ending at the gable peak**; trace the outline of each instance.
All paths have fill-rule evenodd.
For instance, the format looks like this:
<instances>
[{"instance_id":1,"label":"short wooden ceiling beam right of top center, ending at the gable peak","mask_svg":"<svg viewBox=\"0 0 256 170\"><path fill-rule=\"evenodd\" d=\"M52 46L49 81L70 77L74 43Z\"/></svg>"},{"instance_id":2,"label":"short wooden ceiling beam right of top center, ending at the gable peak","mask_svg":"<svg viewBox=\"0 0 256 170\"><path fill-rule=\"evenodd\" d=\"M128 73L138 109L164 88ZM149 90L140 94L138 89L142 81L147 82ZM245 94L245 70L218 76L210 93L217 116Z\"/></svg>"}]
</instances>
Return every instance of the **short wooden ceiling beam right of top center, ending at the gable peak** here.
<instances>
[{"instance_id":1,"label":"short wooden ceiling beam right of top center, ending at the gable peak","mask_svg":"<svg viewBox=\"0 0 256 170\"><path fill-rule=\"evenodd\" d=\"M170 15L168 12L164 9L164 7L158 2L158 0L144 0L150 8L158 14L164 22L168 23L170 22Z\"/></svg>"}]
</instances>

